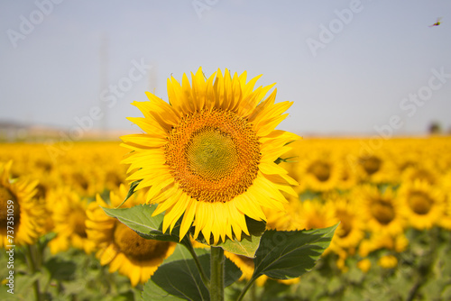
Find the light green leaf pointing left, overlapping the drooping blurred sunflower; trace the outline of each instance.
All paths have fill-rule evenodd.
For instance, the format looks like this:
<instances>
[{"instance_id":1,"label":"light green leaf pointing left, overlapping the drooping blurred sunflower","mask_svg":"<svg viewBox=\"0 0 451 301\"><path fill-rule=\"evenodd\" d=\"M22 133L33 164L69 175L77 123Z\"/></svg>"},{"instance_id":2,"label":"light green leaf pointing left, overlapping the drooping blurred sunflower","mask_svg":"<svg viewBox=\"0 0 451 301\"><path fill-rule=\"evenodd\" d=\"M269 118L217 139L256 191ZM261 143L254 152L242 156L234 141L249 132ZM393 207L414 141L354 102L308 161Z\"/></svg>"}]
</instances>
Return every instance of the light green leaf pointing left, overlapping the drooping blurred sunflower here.
<instances>
[{"instance_id":1,"label":"light green leaf pointing left, overlapping the drooping blurred sunflower","mask_svg":"<svg viewBox=\"0 0 451 301\"><path fill-rule=\"evenodd\" d=\"M117 218L121 223L126 224L136 233L146 239L157 241L179 242L179 226L174 227L172 233L162 232L164 214L152 216L156 206L135 205L131 208L103 208L105 213Z\"/></svg>"}]
</instances>

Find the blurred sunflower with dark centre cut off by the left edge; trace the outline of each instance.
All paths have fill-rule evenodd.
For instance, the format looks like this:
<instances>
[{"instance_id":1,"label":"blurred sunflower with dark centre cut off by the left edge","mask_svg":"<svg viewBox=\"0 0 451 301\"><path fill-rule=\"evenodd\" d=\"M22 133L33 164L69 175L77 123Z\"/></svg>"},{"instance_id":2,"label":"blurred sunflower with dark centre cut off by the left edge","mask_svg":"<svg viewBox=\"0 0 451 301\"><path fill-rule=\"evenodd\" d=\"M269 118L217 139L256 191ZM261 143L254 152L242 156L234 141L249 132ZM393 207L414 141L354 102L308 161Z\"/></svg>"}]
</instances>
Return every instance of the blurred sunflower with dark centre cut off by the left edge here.
<instances>
[{"instance_id":1,"label":"blurred sunflower with dark centre cut off by the left edge","mask_svg":"<svg viewBox=\"0 0 451 301\"><path fill-rule=\"evenodd\" d=\"M0 248L5 249L36 242L45 218L43 206L33 197L38 181L12 179L12 164L0 162Z\"/></svg>"}]
</instances>

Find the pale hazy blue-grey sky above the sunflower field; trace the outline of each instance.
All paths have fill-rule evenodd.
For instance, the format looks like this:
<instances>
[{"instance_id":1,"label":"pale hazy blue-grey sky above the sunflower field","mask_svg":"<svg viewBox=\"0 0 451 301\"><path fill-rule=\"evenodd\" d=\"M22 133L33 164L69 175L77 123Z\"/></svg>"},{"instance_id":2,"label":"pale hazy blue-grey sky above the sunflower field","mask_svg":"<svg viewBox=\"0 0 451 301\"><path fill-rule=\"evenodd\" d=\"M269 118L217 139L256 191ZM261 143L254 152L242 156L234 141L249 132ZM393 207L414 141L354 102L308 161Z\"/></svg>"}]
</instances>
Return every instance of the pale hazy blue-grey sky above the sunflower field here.
<instances>
[{"instance_id":1,"label":"pale hazy blue-grey sky above the sunflower field","mask_svg":"<svg viewBox=\"0 0 451 301\"><path fill-rule=\"evenodd\" d=\"M134 129L133 100L201 66L277 83L292 132L451 128L448 0L3 0L0 32L0 121L70 128L100 105L95 127Z\"/></svg>"}]
</instances>

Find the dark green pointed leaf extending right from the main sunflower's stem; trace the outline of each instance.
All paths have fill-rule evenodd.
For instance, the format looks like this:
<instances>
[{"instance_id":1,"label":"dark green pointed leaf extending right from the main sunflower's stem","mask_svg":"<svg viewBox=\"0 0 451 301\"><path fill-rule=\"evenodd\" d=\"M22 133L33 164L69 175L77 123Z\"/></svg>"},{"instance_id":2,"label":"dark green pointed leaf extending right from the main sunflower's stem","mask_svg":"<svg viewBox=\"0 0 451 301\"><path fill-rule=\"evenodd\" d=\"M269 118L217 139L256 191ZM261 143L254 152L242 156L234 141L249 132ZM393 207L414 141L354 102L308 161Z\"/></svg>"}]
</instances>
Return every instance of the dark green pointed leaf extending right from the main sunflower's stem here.
<instances>
[{"instance_id":1,"label":"dark green pointed leaf extending right from the main sunflower's stem","mask_svg":"<svg viewBox=\"0 0 451 301\"><path fill-rule=\"evenodd\" d=\"M253 260L253 279L263 274L277 279L301 276L315 266L337 226L338 223L309 231L266 231Z\"/></svg>"}]
</instances>

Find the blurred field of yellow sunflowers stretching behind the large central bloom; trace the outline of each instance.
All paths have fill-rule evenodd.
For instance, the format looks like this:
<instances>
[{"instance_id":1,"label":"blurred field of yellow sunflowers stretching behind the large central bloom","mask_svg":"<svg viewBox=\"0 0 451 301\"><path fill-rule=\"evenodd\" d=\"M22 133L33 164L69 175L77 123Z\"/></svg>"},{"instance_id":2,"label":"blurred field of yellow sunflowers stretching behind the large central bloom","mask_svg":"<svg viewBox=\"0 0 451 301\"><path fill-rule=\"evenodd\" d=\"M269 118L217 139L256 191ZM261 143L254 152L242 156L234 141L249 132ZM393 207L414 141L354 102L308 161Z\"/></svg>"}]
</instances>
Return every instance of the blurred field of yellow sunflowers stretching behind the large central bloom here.
<instances>
[{"instance_id":1,"label":"blurred field of yellow sunflowers stretching behind the large central bloom","mask_svg":"<svg viewBox=\"0 0 451 301\"><path fill-rule=\"evenodd\" d=\"M306 137L290 146L278 163L299 182L299 197L287 195L284 211L267 210L267 229L340 223L314 269L285 281L262 276L245 300L451 299L450 137ZM58 152L44 143L1 144L0 299L141 299L143 284L177 248L144 240L102 210L127 196L126 151L116 141ZM138 191L123 206L143 203ZM226 257L243 273L226 287L235 300L253 260Z\"/></svg>"}]
</instances>

